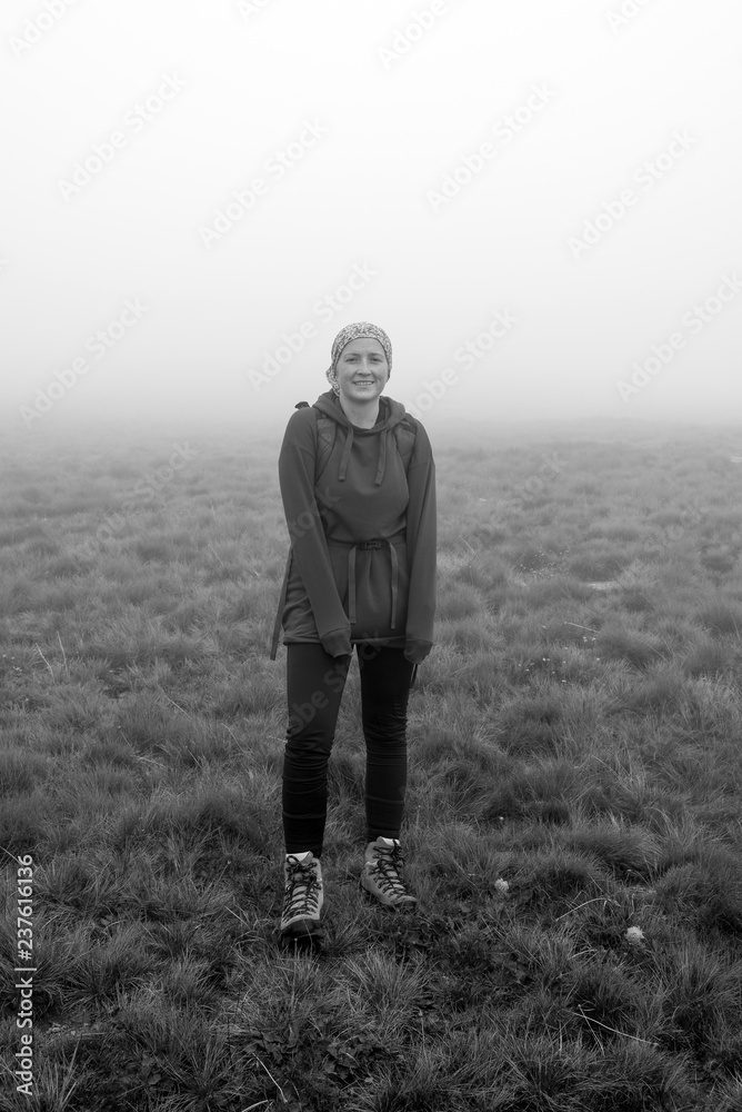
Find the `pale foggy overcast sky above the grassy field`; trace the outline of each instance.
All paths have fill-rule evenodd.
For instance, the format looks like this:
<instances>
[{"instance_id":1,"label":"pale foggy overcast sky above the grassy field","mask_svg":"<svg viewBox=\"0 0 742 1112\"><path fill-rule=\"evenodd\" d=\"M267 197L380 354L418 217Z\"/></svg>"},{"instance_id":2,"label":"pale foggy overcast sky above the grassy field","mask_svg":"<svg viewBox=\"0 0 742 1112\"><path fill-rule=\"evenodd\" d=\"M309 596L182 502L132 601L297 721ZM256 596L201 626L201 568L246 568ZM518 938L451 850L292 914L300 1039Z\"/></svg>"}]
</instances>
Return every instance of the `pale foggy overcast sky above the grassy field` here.
<instances>
[{"instance_id":1,"label":"pale foggy overcast sky above the grassy field","mask_svg":"<svg viewBox=\"0 0 742 1112\"><path fill-rule=\"evenodd\" d=\"M742 418L739 0L4 0L2 416Z\"/></svg>"}]
</instances>

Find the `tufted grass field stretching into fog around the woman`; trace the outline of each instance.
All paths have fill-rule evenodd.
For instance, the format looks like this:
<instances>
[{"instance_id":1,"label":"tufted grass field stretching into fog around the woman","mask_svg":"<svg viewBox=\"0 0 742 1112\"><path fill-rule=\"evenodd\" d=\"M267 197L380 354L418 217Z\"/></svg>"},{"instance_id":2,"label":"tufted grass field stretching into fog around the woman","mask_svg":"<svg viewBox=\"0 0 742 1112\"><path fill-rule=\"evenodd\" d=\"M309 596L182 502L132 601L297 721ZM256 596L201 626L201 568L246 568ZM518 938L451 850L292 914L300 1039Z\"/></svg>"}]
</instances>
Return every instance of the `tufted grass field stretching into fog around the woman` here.
<instances>
[{"instance_id":1,"label":"tufted grass field stretching into fog around the woman","mask_svg":"<svg viewBox=\"0 0 742 1112\"><path fill-rule=\"evenodd\" d=\"M301 956L280 437L2 441L0 1108L741 1112L742 429L431 428L420 911L358 892L354 663Z\"/></svg>"}]
</instances>

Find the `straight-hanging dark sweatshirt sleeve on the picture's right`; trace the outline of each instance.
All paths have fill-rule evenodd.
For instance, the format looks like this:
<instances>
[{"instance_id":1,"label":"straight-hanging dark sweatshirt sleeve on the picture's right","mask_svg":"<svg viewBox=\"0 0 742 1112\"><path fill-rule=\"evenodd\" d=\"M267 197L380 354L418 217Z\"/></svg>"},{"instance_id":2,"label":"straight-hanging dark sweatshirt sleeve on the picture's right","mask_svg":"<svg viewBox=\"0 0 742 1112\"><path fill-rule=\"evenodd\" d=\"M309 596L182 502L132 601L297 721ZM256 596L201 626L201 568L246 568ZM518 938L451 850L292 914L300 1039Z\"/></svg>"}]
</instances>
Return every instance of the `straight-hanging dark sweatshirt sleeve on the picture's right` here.
<instances>
[{"instance_id":1,"label":"straight-hanging dark sweatshirt sleeve on the picture's right","mask_svg":"<svg viewBox=\"0 0 742 1112\"><path fill-rule=\"evenodd\" d=\"M404 655L413 664L422 664L433 646L437 518L435 464L428 434L420 424L408 486L407 535L411 558Z\"/></svg>"}]
</instances>

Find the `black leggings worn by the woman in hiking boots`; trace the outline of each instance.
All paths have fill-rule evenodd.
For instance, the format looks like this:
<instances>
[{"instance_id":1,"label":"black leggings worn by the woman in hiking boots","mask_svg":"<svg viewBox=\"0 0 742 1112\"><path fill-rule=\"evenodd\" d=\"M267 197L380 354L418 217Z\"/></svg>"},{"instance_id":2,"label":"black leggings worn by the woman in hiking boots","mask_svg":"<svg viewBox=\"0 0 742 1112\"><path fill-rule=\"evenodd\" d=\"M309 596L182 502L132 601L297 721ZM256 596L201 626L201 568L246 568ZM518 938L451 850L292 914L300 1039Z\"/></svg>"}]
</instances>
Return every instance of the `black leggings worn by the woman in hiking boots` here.
<instances>
[{"instance_id":1,"label":"black leggings worn by the woman in hiking boots","mask_svg":"<svg viewBox=\"0 0 742 1112\"><path fill-rule=\"evenodd\" d=\"M365 738L365 821L369 842L399 837L407 787L407 706L413 665L401 648L358 645ZM283 757L287 853L322 853L328 761L350 656L321 645L288 645L289 728Z\"/></svg>"}]
</instances>

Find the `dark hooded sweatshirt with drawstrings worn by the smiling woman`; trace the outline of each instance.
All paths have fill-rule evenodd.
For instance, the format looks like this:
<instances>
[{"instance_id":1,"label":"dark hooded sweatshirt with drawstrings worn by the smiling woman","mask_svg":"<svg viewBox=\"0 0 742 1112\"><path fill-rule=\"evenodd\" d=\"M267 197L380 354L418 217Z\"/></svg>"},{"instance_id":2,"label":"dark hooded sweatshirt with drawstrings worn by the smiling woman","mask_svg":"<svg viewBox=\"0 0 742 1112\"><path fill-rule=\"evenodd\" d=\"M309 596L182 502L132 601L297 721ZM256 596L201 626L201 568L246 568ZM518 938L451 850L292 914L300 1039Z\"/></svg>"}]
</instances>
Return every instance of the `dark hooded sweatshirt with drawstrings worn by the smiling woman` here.
<instances>
[{"instance_id":1,"label":"dark hooded sweatshirt with drawstrings worn by the smiling woman","mask_svg":"<svg viewBox=\"0 0 742 1112\"><path fill-rule=\"evenodd\" d=\"M320 414L338 427L318 475ZM435 467L428 434L409 416L414 448L405 458L400 454L394 428L405 416L401 403L382 396L377 424L359 428L332 390L291 416L279 456L291 537L279 604L284 645L319 642L331 656L343 656L362 642L403 648L413 664L428 656Z\"/></svg>"}]
</instances>

